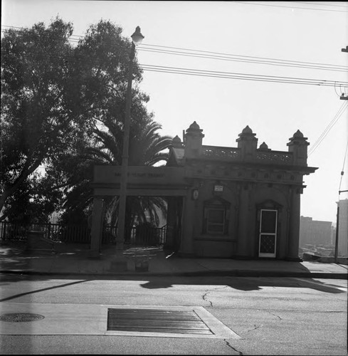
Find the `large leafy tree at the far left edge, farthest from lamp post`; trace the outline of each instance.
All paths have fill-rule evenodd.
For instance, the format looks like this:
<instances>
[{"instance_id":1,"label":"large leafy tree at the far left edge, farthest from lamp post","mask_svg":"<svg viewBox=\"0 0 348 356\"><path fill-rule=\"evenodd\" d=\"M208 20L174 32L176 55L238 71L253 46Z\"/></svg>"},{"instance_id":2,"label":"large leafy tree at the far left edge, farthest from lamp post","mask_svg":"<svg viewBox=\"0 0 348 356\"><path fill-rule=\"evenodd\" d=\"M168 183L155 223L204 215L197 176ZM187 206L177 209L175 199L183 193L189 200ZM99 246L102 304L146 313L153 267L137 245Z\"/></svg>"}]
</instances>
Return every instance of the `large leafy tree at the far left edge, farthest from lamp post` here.
<instances>
[{"instance_id":1,"label":"large leafy tree at the far left edge, farthest from lamp post","mask_svg":"<svg viewBox=\"0 0 348 356\"><path fill-rule=\"evenodd\" d=\"M72 32L71 23L56 19L48 28L6 31L1 40L0 219L35 199L38 167L73 151L87 134L78 78L65 61L73 56Z\"/></svg>"}]
</instances>

